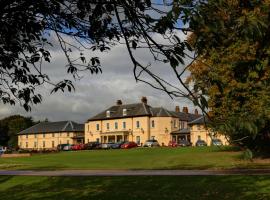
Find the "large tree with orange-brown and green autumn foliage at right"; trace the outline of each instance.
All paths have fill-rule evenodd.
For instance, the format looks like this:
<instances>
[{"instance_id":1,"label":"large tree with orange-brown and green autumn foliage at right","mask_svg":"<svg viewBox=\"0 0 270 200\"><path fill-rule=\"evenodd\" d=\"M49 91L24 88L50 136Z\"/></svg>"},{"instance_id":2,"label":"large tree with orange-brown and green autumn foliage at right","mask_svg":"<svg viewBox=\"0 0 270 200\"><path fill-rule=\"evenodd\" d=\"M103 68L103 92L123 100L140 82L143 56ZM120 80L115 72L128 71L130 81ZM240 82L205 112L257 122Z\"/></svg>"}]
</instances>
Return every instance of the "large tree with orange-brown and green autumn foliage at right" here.
<instances>
[{"instance_id":1,"label":"large tree with orange-brown and green autumn foliage at right","mask_svg":"<svg viewBox=\"0 0 270 200\"><path fill-rule=\"evenodd\" d=\"M208 1L198 11L190 42L199 57L189 83L207 97L212 128L269 150L270 2Z\"/></svg>"}]
</instances>

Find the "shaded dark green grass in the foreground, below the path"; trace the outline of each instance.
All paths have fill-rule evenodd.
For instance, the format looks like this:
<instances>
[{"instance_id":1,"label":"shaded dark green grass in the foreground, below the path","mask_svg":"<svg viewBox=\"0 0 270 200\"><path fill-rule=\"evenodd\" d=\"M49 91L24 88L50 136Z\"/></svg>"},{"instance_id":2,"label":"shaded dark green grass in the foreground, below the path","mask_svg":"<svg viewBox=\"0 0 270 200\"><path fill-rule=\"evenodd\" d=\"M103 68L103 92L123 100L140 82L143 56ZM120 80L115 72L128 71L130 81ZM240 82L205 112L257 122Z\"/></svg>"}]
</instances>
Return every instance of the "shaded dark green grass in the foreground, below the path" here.
<instances>
[{"instance_id":1,"label":"shaded dark green grass in the foreground, below the path","mask_svg":"<svg viewBox=\"0 0 270 200\"><path fill-rule=\"evenodd\" d=\"M1 199L270 199L269 176L0 176Z\"/></svg>"}]
</instances>

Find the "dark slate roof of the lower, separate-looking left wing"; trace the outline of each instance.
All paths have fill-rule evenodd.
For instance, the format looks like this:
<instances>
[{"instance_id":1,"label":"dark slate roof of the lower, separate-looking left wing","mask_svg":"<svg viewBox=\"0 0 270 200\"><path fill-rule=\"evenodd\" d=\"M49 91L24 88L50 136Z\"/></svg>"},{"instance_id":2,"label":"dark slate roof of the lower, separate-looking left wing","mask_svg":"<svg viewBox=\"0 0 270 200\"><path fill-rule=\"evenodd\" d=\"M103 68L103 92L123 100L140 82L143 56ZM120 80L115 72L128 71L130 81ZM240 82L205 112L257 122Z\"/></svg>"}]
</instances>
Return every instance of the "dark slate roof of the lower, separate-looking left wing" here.
<instances>
[{"instance_id":1,"label":"dark slate roof of the lower, separate-looking left wing","mask_svg":"<svg viewBox=\"0 0 270 200\"><path fill-rule=\"evenodd\" d=\"M55 132L84 132L84 124L78 124L73 121L41 122L19 132L18 134Z\"/></svg>"}]
</instances>

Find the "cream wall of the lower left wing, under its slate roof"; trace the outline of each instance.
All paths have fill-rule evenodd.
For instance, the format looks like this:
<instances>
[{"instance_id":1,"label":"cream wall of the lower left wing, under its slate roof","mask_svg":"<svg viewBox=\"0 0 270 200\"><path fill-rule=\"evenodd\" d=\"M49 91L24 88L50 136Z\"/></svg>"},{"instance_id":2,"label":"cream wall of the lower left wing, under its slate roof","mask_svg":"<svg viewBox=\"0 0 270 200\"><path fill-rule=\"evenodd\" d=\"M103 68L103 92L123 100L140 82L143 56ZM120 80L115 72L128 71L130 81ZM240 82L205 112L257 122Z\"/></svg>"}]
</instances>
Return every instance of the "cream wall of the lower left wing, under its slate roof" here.
<instances>
[{"instance_id":1,"label":"cream wall of the lower left wing, under its slate roof","mask_svg":"<svg viewBox=\"0 0 270 200\"><path fill-rule=\"evenodd\" d=\"M74 144L75 141L72 139L74 134L76 133L62 132L18 135L18 145L20 148L23 149L52 149L56 148L58 144ZM52 146L52 141L54 141L54 147ZM26 147L26 142L28 143L28 147ZM43 147L43 142L45 142L45 147Z\"/></svg>"}]
</instances>

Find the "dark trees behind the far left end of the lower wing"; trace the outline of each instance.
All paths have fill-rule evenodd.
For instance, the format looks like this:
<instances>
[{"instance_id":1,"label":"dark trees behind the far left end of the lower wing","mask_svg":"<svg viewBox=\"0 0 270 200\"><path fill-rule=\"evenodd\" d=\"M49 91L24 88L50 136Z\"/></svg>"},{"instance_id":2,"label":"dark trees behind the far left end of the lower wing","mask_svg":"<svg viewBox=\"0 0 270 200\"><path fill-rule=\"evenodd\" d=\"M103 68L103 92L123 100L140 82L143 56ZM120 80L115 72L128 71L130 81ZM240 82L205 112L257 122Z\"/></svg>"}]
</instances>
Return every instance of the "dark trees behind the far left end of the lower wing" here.
<instances>
[{"instance_id":1,"label":"dark trees behind the far left end of the lower wing","mask_svg":"<svg viewBox=\"0 0 270 200\"><path fill-rule=\"evenodd\" d=\"M45 120L47 121L47 120ZM34 121L32 117L12 115L0 120L0 145L15 148L18 146L17 133L29 128L40 121Z\"/></svg>"}]
</instances>

